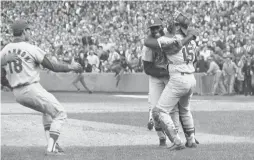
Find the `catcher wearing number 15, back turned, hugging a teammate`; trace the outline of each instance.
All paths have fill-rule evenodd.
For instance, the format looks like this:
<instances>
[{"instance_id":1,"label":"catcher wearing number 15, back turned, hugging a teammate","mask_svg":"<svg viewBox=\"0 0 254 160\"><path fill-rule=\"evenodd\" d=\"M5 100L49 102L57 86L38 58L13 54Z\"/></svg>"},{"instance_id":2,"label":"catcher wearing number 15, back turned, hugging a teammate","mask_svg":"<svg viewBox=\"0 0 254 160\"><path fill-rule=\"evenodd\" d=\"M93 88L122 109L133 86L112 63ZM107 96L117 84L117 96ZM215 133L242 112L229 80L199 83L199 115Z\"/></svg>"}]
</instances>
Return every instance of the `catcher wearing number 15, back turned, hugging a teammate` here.
<instances>
[{"instance_id":1,"label":"catcher wearing number 15, back turned, hugging a teammate","mask_svg":"<svg viewBox=\"0 0 254 160\"><path fill-rule=\"evenodd\" d=\"M169 149L180 150L185 146L197 147L195 127L190 112L190 99L196 85L194 77L195 42L191 42L198 35L198 31L189 27L190 20L176 11L167 22L168 33L157 39L146 41L145 45L154 49L161 49L168 60L169 82L165 86L156 107L152 110L155 124L159 124L168 138L174 143ZM172 36L174 35L174 36ZM180 122L186 137L186 144L182 142L174 121L169 116L178 107Z\"/></svg>"}]
</instances>

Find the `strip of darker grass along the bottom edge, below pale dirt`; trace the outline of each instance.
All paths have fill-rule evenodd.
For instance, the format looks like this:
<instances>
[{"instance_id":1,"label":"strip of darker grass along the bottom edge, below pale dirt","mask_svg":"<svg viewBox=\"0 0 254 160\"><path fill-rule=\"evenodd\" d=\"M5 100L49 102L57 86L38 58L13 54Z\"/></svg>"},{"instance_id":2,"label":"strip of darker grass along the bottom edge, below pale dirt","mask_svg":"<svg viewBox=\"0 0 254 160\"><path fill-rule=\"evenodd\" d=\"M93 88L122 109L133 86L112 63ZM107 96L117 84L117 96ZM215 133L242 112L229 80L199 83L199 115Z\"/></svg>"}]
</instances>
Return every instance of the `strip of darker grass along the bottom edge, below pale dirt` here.
<instances>
[{"instance_id":1,"label":"strip of darker grass along the bottom edge, below pale dirt","mask_svg":"<svg viewBox=\"0 0 254 160\"><path fill-rule=\"evenodd\" d=\"M250 160L254 144L199 145L196 149L170 152L158 146L67 147L64 156L45 156L45 147L2 146L2 160Z\"/></svg>"}]
</instances>

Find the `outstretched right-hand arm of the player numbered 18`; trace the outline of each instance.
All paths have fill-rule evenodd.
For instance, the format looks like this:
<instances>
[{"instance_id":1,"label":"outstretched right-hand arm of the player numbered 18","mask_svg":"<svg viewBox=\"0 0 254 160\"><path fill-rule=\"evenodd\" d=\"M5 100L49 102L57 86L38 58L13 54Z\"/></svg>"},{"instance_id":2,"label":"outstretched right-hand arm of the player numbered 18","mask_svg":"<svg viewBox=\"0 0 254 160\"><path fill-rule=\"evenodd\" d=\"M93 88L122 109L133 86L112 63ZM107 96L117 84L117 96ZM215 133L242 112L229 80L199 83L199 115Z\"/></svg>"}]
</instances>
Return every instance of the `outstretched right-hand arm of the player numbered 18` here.
<instances>
[{"instance_id":1,"label":"outstretched right-hand arm of the player numbered 18","mask_svg":"<svg viewBox=\"0 0 254 160\"><path fill-rule=\"evenodd\" d=\"M77 62L72 62L71 64L61 63L59 61L54 61L47 55L44 56L44 59L41 63L44 68L47 68L53 72L70 72L70 71L81 71L82 67Z\"/></svg>"}]
</instances>

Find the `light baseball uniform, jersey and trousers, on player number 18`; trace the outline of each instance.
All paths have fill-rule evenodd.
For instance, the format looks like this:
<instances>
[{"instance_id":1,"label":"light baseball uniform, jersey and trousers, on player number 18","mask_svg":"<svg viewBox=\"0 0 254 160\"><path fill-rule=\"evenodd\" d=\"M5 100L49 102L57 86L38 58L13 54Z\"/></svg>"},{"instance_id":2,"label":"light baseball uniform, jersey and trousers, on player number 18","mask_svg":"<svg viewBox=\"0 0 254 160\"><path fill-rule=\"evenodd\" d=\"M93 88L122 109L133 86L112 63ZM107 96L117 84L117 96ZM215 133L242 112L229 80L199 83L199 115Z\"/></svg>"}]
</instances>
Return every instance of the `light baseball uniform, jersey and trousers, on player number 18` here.
<instances>
[{"instance_id":1,"label":"light baseball uniform, jersey and trousers, on player number 18","mask_svg":"<svg viewBox=\"0 0 254 160\"><path fill-rule=\"evenodd\" d=\"M50 128L50 134L58 136L67 115L58 100L39 83L40 64L46 53L27 42L16 42L3 48L1 58L13 52L18 55L18 60L3 67L16 101L43 113L44 127Z\"/></svg>"}]
</instances>

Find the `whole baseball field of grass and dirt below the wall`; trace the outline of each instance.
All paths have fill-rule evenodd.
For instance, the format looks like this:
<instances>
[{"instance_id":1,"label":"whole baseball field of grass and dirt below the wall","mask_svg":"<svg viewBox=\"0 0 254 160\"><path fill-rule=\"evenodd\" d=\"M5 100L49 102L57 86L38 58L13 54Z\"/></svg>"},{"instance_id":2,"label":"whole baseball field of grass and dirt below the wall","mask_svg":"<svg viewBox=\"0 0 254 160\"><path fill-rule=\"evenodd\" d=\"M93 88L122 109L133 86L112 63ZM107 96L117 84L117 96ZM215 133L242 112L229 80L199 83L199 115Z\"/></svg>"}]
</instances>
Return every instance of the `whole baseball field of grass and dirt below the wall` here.
<instances>
[{"instance_id":1,"label":"whole baseball field of grass and dirt below the wall","mask_svg":"<svg viewBox=\"0 0 254 160\"><path fill-rule=\"evenodd\" d=\"M42 117L1 96L2 160L252 160L254 97L194 96L191 108L200 145L170 152L146 127L146 95L53 93L68 113L59 144L66 155L45 156ZM183 133L181 132L183 137ZM171 145L168 142L168 145Z\"/></svg>"}]
</instances>

